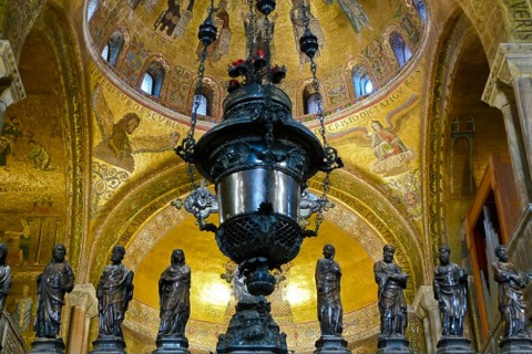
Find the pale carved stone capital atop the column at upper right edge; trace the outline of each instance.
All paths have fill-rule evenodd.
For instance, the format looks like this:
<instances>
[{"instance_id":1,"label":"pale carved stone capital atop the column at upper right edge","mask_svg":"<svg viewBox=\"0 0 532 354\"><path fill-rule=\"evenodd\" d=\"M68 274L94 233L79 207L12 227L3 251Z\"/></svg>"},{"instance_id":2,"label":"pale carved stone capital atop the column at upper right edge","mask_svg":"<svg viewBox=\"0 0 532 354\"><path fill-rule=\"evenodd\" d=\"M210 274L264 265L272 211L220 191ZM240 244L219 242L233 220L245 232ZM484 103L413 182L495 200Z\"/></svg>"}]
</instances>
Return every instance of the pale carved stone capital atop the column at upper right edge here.
<instances>
[{"instance_id":1,"label":"pale carved stone capital atop the column at upper right edge","mask_svg":"<svg viewBox=\"0 0 532 354\"><path fill-rule=\"evenodd\" d=\"M532 76L532 43L501 43L491 65L490 77L482 94L482 101L501 107L501 86L513 86L518 76Z\"/></svg>"}]
</instances>

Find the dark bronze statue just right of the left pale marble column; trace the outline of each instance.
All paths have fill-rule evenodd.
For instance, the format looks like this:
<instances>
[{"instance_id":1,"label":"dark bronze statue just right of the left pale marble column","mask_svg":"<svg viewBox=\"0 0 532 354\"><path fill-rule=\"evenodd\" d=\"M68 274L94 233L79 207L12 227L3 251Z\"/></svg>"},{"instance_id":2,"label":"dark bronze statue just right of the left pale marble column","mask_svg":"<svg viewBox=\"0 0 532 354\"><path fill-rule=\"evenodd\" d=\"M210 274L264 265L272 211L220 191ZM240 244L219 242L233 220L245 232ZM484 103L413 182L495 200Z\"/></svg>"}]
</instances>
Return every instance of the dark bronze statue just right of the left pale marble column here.
<instances>
[{"instance_id":1,"label":"dark bronze statue just right of the left pale marble column","mask_svg":"<svg viewBox=\"0 0 532 354\"><path fill-rule=\"evenodd\" d=\"M111 262L103 270L96 289L100 313L99 336L114 336L123 340L122 322L130 300L133 299L134 273L122 264L125 248L115 246Z\"/></svg>"}]
</instances>

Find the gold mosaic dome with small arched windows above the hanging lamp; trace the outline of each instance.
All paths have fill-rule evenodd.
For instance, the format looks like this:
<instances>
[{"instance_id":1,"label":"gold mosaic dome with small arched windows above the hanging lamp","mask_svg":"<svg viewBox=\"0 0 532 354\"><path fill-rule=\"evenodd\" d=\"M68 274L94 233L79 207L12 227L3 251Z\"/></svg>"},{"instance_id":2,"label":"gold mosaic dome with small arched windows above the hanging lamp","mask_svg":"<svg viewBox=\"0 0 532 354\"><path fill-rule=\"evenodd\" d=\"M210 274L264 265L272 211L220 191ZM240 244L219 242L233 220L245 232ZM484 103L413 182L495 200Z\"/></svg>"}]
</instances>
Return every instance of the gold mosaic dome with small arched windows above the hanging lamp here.
<instances>
[{"instance_id":1,"label":"gold mosaic dome with small arched windows above the hanging lamp","mask_svg":"<svg viewBox=\"0 0 532 354\"><path fill-rule=\"evenodd\" d=\"M297 44L304 31L300 2L278 1L269 15L274 32L272 62L288 69L283 87L293 98L296 116L304 114L303 92L311 79L308 59ZM110 73L140 91L146 69L153 62L161 63L165 69L163 87L158 97L151 98L172 111L188 114L202 49L197 29L206 18L209 1L147 0L135 9L116 1L89 4L91 45L95 53L101 53L113 38L123 38L114 66L108 65ZM208 48L205 77L212 91L211 115L219 119L227 66L247 56L248 6L245 0L216 0L214 4L218 38ZM402 59L396 58L392 45L402 45L408 60L422 37L422 14L411 1L314 0L310 11L310 28L320 43L318 77L324 83L325 107L329 111L355 101L354 67L364 66L374 87L382 87L403 64ZM264 18L257 15L257 21L260 29ZM256 32L262 35L260 30ZM391 43L393 32L399 33L399 44Z\"/></svg>"}]
</instances>

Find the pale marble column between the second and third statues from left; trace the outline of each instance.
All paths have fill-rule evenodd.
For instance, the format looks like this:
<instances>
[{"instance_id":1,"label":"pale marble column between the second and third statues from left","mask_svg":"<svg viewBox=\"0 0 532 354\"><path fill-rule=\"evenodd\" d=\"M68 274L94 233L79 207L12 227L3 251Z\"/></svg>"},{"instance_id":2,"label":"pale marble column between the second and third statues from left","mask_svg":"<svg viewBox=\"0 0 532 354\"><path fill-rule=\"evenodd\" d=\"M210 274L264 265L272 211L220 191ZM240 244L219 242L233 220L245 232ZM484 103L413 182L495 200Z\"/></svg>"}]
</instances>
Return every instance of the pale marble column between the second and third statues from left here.
<instances>
[{"instance_id":1,"label":"pale marble column between the second and third statues from left","mask_svg":"<svg viewBox=\"0 0 532 354\"><path fill-rule=\"evenodd\" d=\"M89 352L89 330L91 319L98 315L96 291L91 283L75 284L74 290L66 298L64 319L70 322L64 326L64 337L68 337L66 353L85 354ZM68 311L66 311L68 312ZM68 330L66 330L68 329Z\"/></svg>"}]
</instances>

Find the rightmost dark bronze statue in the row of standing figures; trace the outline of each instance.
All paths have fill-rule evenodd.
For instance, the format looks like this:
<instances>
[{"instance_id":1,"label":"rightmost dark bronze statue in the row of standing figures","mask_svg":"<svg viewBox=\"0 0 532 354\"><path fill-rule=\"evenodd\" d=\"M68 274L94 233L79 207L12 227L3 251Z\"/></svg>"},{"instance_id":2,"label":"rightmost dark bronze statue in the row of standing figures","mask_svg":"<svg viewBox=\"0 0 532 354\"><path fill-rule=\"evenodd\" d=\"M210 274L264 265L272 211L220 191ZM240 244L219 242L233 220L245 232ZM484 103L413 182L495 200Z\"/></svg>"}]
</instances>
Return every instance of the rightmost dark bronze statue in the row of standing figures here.
<instances>
[{"instance_id":1,"label":"rightmost dark bronze statue in the row of standing figures","mask_svg":"<svg viewBox=\"0 0 532 354\"><path fill-rule=\"evenodd\" d=\"M499 311L504 320L504 336L528 337L523 291L529 275L509 261L504 246L495 247L495 256L499 260L492 264L493 278L499 283Z\"/></svg>"}]
</instances>

